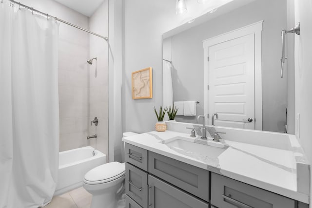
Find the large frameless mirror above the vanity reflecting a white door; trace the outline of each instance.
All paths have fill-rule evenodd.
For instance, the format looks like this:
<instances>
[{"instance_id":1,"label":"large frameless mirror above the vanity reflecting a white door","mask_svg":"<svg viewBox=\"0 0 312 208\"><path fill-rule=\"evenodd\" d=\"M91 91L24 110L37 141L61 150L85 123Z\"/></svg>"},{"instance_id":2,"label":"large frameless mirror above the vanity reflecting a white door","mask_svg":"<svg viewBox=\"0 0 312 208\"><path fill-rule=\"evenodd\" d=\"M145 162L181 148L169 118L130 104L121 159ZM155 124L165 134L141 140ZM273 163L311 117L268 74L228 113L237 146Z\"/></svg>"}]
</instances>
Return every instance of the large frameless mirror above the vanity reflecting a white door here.
<instances>
[{"instance_id":1,"label":"large frameless mirror above the vanity reflecting a white door","mask_svg":"<svg viewBox=\"0 0 312 208\"><path fill-rule=\"evenodd\" d=\"M199 101L194 116L176 121L196 123L205 114L211 124L217 113L216 126L293 133L292 34L283 78L280 70L281 31L293 27L292 10L292 0L233 0L163 34L173 101Z\"/></svg>"}]
</instances>

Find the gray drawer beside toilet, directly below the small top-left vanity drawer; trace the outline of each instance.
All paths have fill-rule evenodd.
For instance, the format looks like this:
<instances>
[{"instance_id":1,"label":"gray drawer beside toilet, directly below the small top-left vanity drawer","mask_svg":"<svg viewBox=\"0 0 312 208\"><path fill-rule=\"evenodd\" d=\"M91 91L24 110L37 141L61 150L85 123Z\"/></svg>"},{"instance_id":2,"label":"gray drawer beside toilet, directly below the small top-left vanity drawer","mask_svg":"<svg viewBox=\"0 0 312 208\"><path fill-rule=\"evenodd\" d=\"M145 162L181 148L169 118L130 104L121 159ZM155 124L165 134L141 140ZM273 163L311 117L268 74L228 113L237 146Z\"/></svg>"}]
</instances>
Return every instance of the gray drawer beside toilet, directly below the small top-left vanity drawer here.
<instances>
[{"instance_id":1,"label":"gray drawer beside toilet, directly below the small top-left vanity drawer","mask_svg":"<svg viewBox=\"0 0 312 208\"><path fill-rule=\"evenodd\" d=\"M143 208L148 208L147 174L147 172L126 163L126 194Z\"/></svg>"}]
</instances>

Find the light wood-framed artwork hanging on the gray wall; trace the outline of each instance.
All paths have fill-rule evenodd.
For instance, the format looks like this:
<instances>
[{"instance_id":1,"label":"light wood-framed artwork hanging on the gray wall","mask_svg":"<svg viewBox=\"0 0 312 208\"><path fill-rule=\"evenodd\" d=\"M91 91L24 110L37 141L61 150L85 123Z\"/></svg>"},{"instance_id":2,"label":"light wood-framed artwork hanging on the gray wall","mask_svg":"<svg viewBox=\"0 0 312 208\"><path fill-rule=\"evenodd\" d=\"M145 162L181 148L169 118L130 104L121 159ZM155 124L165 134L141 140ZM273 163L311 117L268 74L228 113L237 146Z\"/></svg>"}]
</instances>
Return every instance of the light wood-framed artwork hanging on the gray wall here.
<instances>
[{"instance_id":1,"label":"light wood-framed artwork hanging on the gray wall","mask_svg":"<svg viewBox=\"0 0 312 208\"><path fill-rule=\"evenodd\" d=\"M152 67L132 73L132 99L153 97Z\"/></svg>"}]
</instances>

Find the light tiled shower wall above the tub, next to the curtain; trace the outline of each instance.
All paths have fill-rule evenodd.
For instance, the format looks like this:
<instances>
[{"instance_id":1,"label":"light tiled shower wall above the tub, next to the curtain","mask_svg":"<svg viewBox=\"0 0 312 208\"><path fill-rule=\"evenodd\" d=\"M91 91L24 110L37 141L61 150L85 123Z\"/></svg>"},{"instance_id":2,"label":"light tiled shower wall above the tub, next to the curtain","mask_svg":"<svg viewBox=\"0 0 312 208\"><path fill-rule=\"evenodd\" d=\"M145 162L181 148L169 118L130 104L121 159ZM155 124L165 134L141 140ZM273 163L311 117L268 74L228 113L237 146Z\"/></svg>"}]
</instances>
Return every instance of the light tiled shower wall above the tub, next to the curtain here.
<instances>
[{"instance_id":1,"label":"light tiled shower wall above the tub, next to the curtain","mask_svg":"<svg viewBox=\"0 0 312 208\"><path fill-rule=\"evenodd\" d=\"M73 24L89 28L89 18L64 6ZM59 27L59 151L89 145L89 34L74 27Z\"/></svg>"}]
</instances>

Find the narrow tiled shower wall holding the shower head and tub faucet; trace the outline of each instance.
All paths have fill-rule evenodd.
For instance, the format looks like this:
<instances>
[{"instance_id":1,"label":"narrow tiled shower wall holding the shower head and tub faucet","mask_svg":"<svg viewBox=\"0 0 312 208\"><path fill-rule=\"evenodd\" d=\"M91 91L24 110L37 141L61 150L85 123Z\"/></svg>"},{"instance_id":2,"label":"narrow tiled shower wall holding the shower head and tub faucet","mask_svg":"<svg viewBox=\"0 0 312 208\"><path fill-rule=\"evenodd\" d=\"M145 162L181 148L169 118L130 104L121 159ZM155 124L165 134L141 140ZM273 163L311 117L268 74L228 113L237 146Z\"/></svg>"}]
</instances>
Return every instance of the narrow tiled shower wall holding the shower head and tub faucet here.
<instances>
[{"instance_id":1,"label":"narrow tiled shower wall holding the shower head and tub faucet","mask_svg":"<svg viewBox=\"0 0 312 208\"><path fill-rule=\"evenodd\" d=\"M108 0L90 17L90 30L108 36ZM98 126L89 125L89 132L97 133L98 138L90 139L90 145L108 155L108 44L90 35L90 58L93 57L98 60L90 65L90 120L97 116Z\"/></svg>"}]
</instances>

